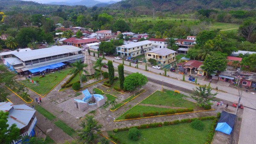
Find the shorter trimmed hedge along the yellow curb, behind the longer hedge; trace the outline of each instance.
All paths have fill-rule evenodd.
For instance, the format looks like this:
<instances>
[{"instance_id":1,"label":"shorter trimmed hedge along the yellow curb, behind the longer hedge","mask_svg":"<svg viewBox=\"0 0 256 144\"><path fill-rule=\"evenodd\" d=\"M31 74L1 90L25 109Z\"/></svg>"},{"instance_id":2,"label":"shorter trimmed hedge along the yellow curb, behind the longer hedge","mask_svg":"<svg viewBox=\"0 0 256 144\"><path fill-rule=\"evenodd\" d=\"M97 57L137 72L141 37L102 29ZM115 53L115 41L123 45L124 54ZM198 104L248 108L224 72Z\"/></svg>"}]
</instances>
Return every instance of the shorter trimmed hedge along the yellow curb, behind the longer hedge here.
<instances>
[{"instance_id":1,"label":"shorter trimmed hedge along the yellow curb, behind the longer hedge","mask_svg":"<svg viewBox=\"0 0 256 144\"><path fill-rule=\"evenodd\" d=\"M194 109L192 108L187 108L187 109L175 109L175 110L167 110L167 111L163 111L163 112L160 112L160 115L169 115L169 114L175 114L175 113L183 113L183 112L193 112ZM135 114L135 113L133 113ZM136 113L137 115L140 115L139 113ZM126 115L125 115L125 119L131 119L130 118L130 114L127 114L128 115L128 118L126 118ZM159 112L144 112L143 113L143 116L144 117L150 117L150 116L155 116L155 115L159 115ZM140 117L136 117L136 118L140 118Z\"/></svg>"}]
</instances>

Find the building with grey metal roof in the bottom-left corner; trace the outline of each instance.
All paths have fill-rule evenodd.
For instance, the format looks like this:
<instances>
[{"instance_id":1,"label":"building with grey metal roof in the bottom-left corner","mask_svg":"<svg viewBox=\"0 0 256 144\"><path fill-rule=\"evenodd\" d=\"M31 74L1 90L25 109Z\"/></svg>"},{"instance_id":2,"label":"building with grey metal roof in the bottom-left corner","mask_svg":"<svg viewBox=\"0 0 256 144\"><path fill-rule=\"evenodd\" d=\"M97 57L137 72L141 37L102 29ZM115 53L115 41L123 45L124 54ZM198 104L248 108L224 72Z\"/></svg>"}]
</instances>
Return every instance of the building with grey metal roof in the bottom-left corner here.
<instances>
[{"instance_id":1,"label":"building with grey metal roof in the bottom-left corner","mask_svg":"<svg viewBox=\"0 0 256 144\"><path fill-rule=\"evenodd\" d=\"M11 144L21 144L22 138L25 136L32 137L35 135L35 124L37 118L35 116L35 109L26 104L14 105L11 102L0 102L0 110L9 112L7 124L9 127L16 124L20 129L20 138L12 140Z\"/></svg>"}]
</instances>

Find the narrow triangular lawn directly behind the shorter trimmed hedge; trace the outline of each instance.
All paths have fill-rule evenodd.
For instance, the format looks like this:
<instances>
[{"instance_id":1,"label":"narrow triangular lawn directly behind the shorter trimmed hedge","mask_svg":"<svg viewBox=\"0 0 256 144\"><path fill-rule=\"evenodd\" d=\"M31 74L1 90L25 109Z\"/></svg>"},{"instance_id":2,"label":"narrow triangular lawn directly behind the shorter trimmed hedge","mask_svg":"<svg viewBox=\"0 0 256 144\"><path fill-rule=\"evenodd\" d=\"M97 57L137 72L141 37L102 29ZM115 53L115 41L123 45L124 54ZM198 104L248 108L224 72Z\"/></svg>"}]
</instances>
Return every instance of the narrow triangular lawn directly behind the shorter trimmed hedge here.
<instances>
[{"instance_id":1,"label":"narrow triangular lawn directly behind the shorter trimmed hedge","mask_svg":"<svg viewBox=\"0 0 256 144\"><path fill-rule=\"evenodd\" d=\"M162 107L150 107L150 106L140 106L137 105L131 109L129 109L127 112L119 116L116 120L122 120L125 119L125 115L129 113L140 113L140 117L143 117L143 112L151 112L151 111L157 111L157 112L163 112L166 110L171 110L169 108L162 108Z\"/></svg>"}]
</instances>

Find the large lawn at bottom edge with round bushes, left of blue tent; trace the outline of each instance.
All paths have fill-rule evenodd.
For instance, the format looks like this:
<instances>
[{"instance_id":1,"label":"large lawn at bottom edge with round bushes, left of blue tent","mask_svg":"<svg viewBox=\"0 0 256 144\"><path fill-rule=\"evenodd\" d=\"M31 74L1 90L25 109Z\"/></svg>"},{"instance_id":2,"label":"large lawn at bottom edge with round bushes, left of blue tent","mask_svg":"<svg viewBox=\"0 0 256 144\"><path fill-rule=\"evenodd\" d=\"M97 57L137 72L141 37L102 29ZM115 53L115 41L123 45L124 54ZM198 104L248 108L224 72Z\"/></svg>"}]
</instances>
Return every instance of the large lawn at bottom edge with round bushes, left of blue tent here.
<instances>
[{"instance_id":1,"label":"large lawn at bottom edge with round bushes, left of blue tent","mask_svg":"<svg viewBox=\"0 0 256 144\"><path fill-rule=\"evenodd\" d=\"M128 131L117 132L115 136L125 144L204 144L212 120L205 120L203 123L205 128L202 131L193 129L190 123L140 129L141 137L138 141L130 140Z\"/></svg>"}]
</instances>

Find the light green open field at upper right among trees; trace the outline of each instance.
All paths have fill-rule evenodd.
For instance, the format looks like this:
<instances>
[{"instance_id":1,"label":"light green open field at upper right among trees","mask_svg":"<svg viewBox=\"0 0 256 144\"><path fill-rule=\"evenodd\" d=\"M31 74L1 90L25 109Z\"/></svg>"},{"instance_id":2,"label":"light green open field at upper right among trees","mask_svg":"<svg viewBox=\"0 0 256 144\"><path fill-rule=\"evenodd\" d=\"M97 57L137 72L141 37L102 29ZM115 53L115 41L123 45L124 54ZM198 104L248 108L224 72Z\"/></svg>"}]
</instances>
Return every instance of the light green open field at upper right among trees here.
<instances>
[{"instance_id":1,"label":"light green open field at upper right among trees","mask_svg":"<svg viewBox=\"0 0 256 144\"><path fill-rule=\"evenodd\" d=\"M215 22L212 23L212 26L210 26L209 29L221 29L221 31L237 31L239 29L239 25Z\"/></svg>"}]
</instances>

